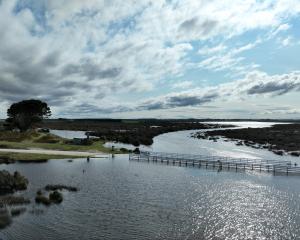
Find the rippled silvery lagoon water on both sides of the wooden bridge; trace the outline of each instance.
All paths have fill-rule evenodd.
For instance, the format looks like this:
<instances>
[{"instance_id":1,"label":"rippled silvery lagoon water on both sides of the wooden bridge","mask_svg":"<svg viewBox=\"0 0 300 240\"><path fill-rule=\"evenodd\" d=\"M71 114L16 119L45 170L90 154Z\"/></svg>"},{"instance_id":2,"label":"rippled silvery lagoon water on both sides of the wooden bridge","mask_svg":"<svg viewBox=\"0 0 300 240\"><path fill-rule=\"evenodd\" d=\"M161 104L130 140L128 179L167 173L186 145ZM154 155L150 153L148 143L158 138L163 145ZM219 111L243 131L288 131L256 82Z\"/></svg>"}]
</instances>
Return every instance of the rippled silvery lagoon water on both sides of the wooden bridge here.
<instances>
[{"instance_id":1,"label":"rippled silvery lagoon water on both sides of the wooden bridge","mask_svg":"<svg viewBox=\"0 0 300 240\"><path fill-rule=\"evenodd\" d=\"M151 149L299 161L190 133L160 135ZM63 192L61 205L30 204L0 239L300 239L297 176L141 163L128 155L0 168L28 177L21 194L31 199L46 184L80 188Z\"/></svg>"}]
</instances>

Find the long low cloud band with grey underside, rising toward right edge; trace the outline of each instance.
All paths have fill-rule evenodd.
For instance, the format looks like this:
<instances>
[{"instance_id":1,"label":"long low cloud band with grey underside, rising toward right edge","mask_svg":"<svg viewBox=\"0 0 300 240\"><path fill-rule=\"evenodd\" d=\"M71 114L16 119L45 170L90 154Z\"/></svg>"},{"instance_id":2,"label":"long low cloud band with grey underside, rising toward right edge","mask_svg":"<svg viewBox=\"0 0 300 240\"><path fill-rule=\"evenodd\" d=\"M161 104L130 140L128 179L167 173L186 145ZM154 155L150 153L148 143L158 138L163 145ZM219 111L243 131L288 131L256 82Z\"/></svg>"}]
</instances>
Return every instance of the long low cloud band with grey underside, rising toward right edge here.
<instances>
[{"instance_id":1,"label":"long low cloud band with grey underside, rising toward right edge","mask_svg":"<svg viewBox=\"0 0 300 240\"><path fill-rule=\"evenodd\" d=\"M229 101L235 98L242 99L259 95L275 97L293 91L300 91L300 72L268 75L264 72L254 71L249 73L244 79L231 83L172 93L137 103L131 108L124 107L123 109L126 109L126 111L141 111L201 106L217 100Z\"/></svg>"}]
</instances>

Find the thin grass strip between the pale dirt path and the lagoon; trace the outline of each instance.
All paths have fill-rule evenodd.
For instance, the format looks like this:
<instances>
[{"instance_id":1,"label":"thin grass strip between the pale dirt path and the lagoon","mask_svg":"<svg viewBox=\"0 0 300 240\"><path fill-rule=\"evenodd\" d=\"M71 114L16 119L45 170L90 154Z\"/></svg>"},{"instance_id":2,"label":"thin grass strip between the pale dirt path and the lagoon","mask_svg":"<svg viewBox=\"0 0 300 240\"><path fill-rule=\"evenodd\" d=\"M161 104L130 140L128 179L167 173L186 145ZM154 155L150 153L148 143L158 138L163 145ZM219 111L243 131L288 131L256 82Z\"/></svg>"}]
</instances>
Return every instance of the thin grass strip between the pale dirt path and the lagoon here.
<instances>
[{"instance_id":1,"label":"thin grass strip between the pale dirt path and the lagoon","mask_svg":"<svg viewBox=\"0 0 300 240\"><path fill-rule=\"evenodd\" d=\"M8 158L14 161L43 161L49 159L70 159L70 158L83 158L79 156L66 156L55 154L37 154L37 153L2 153L0 152L0 159Z\"/></svg>"}]
</instances>

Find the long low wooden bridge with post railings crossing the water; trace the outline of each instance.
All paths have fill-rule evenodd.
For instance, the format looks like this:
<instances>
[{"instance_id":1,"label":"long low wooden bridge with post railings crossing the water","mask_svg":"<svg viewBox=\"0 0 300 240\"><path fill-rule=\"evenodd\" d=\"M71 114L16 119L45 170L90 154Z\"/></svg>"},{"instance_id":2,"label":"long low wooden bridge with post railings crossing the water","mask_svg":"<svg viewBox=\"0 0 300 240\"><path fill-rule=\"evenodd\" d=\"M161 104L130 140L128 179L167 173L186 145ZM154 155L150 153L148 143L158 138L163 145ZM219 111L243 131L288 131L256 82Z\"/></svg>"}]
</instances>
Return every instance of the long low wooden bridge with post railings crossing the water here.
<instances>
[{"instance_id":1,"label":"long low wooden bridge with post railings crossing the water","mask_svg":"<svg viewBox=\"0 0 300 240\"><path fill-rule=\"evenodd\" d=\"M163 152L140 152L129 154L129 160L160 162L179 166L192 166L220 170L252 170L275 174L300 175L300 167L291 161L231 158Z\"/></svg>"}]
</instances>

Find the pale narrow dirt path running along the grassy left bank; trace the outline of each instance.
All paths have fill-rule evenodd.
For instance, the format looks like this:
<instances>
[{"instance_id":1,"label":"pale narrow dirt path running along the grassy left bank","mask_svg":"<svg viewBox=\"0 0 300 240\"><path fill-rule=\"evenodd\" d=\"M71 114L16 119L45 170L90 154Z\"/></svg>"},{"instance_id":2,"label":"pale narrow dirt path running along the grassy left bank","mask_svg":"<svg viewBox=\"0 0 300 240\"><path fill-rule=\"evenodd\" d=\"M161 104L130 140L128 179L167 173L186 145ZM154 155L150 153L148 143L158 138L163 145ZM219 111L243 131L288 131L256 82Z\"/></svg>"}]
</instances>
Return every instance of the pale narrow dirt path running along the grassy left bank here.
<instances>
[{"instance_id":1,"label":"pale narrow dirt path running along the grassy left bank","mask_svg":"<svg viewBox=\"0 0 300 240\"><path fill-rule=\"evenodd\" d=\"M36 153L36 154L79 156L79 157L107 155L102 152L79 152L79 151L61 151L61 150L46 150L46 149L13 149L13 148L0 149L0 152L32 153L32 154Z\"/></svg>"}]
</instances>

